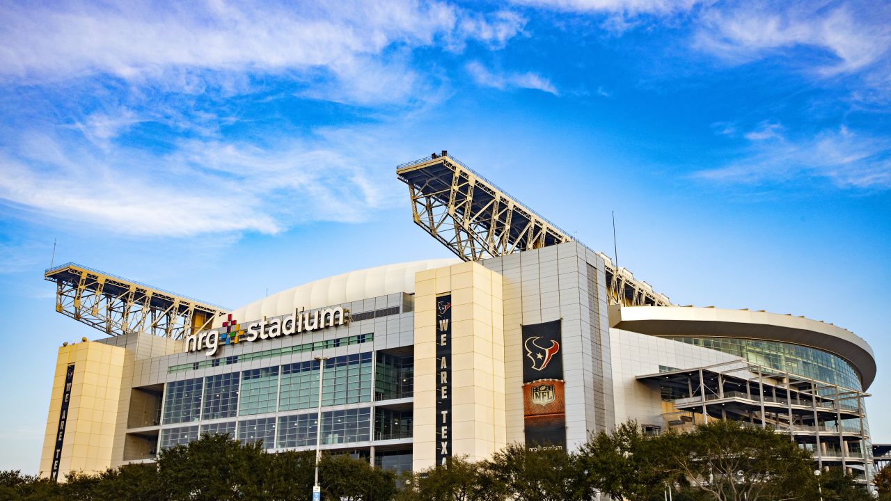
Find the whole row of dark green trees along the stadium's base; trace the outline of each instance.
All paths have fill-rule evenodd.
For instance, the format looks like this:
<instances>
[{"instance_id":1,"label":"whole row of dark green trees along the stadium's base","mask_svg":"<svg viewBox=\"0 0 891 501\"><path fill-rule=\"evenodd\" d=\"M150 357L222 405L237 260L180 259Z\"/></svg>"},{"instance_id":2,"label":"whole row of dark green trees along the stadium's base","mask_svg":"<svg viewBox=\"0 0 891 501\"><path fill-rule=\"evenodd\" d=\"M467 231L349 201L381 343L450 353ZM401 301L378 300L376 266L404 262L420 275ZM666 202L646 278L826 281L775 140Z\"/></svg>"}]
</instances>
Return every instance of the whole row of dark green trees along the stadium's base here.
<instances>
[{"instance_id":1,"label":"whole row of dark green trees along the stadium's base","mask_svg":"<svg viewBox=\"0 0 891 501\"><path fill-rule=\"evenodd\" d=\"M315 453L267 453L226 435L202 436L163 450L157 464L127 464L65 482L0 472L0 501L309 501ZM891 470L875 484L883 501ZM486 461L453 457L446 466L406 473L367 459L324 455L324 500L582 501L611 497L662 501L868 501L854 478L838 470L813 474L810 454L788 435L715 421L685 433L649 435L637 423L593 433L577 451L511 444Z\"/></svg>"}]
</instances>

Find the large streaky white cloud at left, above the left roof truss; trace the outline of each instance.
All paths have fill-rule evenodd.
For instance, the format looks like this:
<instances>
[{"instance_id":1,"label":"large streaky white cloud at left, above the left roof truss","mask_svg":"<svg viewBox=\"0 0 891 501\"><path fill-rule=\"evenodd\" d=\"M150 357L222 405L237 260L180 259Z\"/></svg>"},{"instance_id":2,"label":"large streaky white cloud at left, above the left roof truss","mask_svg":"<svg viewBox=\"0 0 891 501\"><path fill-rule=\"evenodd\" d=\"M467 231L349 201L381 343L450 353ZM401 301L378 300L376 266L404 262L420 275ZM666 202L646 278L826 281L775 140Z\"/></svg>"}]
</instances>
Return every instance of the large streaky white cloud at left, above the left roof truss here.
<instances>
[{"instance_id":1,"label":"large streaky white cloud at left, above the left roof truss","mask_svg":"<svg viewBox=\"0 0 891 501\"><path fill-rule=\"evenodd\" d=\"M318 131L268 148L190 141L157 155L31 134L0 153L0 203L115 234L275 234L311 221L356 222L396 203L377 132ZM360 149L364 145L364 149ZM369 165L382 165L375 169ZM380 186L384 186L381 188Z\"/></svg>"}]
</instances>

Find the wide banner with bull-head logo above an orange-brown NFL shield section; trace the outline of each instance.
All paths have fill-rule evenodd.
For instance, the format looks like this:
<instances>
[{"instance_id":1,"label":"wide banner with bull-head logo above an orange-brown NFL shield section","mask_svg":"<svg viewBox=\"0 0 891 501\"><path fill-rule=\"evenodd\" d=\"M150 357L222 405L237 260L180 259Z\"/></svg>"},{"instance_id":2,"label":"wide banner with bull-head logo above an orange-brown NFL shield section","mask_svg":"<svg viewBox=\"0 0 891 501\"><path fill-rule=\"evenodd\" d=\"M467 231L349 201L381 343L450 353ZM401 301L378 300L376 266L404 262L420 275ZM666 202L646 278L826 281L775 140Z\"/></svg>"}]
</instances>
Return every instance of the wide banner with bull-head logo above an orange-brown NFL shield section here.
<instances>
[{"instance_id":1,"label":"wide banner with bull-head logo above an orange-brown NFL shield section","mask_svg":"<svg viewBox=\"0 0 891 501\"><path fill-rule=\"evenodd\" d=\"M566 448L560 320L523 325L523 415L527 447Z\"/></svg>"}]
</instances>

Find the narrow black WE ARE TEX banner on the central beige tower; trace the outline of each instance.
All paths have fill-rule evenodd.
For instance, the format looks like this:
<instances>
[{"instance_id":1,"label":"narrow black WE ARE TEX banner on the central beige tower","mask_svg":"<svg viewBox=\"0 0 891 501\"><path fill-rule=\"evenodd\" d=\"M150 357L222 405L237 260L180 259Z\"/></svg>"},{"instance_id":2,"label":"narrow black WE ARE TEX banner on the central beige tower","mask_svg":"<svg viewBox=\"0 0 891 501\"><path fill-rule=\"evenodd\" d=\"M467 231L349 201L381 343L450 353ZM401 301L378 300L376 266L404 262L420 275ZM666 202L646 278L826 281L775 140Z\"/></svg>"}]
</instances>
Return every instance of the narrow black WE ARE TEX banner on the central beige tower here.
<instances>
[{"instance_id":1,"label":"narrow black WE ARE TEX banner on the central beige tower","mask_svg":"<svg viewBox=\"0 0 891 501\"><path fill-rule=\"evenodd\" d=\"M437 464L452 456L452 295L437 298Z\"/></svg>"}]
</instances>

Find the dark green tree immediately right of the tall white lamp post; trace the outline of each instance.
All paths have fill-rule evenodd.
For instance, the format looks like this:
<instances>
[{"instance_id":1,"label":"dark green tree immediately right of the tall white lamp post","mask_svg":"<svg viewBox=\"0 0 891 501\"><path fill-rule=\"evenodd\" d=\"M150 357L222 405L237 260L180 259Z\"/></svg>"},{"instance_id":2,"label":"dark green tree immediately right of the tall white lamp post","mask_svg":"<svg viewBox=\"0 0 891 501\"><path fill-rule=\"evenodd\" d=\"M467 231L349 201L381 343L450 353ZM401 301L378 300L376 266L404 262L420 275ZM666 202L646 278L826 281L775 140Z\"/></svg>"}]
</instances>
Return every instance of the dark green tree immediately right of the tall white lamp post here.
<instances>
[{"instance_id":1,"label":"dark green tree immediately right of the tall white lamp post","mask_svg":"<svg viewBox=\"0 0 891 501\"><path fill-rule=\"evenodd\" d=\"M388 501L396 495L396 473L347 455L322 458L319 484L325 499Z\"/></svg>"}]
</instances>

